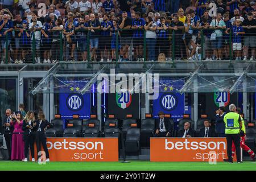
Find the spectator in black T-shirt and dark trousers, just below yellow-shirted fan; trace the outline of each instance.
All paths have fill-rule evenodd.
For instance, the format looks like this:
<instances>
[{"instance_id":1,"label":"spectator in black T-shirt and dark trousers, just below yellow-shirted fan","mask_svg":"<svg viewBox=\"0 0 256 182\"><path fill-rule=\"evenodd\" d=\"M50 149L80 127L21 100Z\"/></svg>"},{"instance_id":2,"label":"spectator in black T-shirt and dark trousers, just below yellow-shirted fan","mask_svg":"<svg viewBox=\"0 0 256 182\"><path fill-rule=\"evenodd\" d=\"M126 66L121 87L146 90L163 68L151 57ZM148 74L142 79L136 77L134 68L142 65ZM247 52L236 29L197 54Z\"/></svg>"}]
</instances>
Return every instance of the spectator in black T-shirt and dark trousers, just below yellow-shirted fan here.
<instances>
[{"instance_id":1,"label":"spectator in black T-shirt and dark trousers, just below yellow-shirted fan","mask_svg":"<svg viewBox=\"0 0 256 182\"><path fill-rule=\"evenodd\" d=\"M171 29L175 31L175 58L176 60L181 59L181 46L184 44L182 40L184 24L179 21L179 17L174 15L172 20Z\"/></svg>"}]
</instances>

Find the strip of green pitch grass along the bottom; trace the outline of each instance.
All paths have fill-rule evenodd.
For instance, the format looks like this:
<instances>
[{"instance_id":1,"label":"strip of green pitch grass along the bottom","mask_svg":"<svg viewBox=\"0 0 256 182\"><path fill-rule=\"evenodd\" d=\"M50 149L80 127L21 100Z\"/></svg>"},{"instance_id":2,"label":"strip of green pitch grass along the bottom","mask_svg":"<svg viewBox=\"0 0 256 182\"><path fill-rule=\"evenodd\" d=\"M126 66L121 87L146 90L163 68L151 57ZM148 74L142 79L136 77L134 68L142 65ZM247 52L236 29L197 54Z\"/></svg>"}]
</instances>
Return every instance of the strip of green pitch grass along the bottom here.
<instances>
[{"instance_id":1,"label":"strip of green pitch grass along the bottom","mask_svg":"<svg viewBox=\"0 0 256 182\"><path fill-rule=\"evenodd\" d=\"M1 161L0 171L170 171L170 170L188 170L188 171L255 171L255 162L243 162L241 164L218 162L216 165L204 162L149 162L130 160L130 163L119 162L49 162L46 165L39 165L36 162L12 162Z\"/></svg>"}]
</instances>

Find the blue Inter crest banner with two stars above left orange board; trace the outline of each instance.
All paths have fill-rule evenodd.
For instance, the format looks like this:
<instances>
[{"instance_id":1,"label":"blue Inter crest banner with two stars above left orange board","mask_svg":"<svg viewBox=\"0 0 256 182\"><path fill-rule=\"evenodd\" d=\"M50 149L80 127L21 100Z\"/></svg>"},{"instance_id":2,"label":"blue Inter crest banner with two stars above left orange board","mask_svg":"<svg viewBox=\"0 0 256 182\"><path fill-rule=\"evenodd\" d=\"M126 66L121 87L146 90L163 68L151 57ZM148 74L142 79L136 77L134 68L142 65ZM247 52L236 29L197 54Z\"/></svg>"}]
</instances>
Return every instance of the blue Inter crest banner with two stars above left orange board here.
<instances>
[{"instance_id":1,"label":"blue Inter crest banner with two stars above left orange board","mask_svg":"<svg viewBox=\"0 0 256 182\"><path fill-rule=\"evenodd\" d=\"M90 93L80 94L80 90L88 83L87 80L63 81L66 86L60 89L61 118L72 119L79 114L81 119L90 118Z\"/></svg>"}]
</instances>

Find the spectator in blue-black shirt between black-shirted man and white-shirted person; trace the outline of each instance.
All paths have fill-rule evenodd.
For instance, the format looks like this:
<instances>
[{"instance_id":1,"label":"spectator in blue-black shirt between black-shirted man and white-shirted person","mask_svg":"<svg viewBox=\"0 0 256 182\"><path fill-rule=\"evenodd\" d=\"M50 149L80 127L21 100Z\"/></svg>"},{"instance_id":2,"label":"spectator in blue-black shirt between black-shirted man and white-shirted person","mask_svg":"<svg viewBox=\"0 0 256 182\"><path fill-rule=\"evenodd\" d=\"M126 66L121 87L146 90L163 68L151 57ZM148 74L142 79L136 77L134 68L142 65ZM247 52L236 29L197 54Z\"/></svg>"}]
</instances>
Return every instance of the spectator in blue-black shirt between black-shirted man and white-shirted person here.
<instances>
[{"instance_id":1,"label":"spectator in blue-black shirt between black-shirted man and white-shirted person","mask_svg":"<svg viewBox=\"0 0 256 182\"><path fill-rule=\"evenodd\" d=\"M145 21L143 18L141 18L141 13L136 12L135 19L133 20L131 29L133 29L133 45L135 47L135 56L137 57L137 61L144 61L144 58L143 58L144 25L145 25Z\"/></svg>"}]
</instances>

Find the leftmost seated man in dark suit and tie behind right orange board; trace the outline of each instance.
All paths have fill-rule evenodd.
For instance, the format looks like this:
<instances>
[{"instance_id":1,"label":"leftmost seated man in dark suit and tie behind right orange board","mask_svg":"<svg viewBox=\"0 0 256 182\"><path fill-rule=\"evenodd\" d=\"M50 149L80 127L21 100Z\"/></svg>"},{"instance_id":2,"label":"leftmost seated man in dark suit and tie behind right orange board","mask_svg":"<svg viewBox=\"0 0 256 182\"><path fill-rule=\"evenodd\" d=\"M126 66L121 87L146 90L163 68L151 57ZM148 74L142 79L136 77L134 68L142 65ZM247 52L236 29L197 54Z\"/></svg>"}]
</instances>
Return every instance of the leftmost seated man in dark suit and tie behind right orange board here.
<instances>
[{"instance_id":1,"label":"leftmost seated man in dark suit and tie behind right orange board","mask_svg":"<svg viewBox=\"0 0 256 182\"><path fill-rule=\"evenodd\" d=\"M154 137L172 137L173 126L168 118L164 118L163 111L158 113L159 119L155 120L155 135Z\"/></svg>"}]
</instances>

